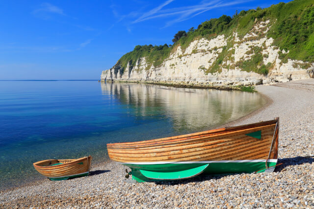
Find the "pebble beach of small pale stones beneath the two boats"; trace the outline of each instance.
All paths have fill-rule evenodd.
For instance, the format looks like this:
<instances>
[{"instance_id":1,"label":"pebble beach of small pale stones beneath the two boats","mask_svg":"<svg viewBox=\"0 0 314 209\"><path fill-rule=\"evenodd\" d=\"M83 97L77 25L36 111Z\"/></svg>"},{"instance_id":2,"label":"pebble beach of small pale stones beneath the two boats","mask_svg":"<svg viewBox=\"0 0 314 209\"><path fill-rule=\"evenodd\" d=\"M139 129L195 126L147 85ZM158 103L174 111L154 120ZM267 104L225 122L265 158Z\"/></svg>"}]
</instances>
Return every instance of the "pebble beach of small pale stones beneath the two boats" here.
<instances>
[{"instance_id":1,"label":"pebble beach of small pale stones beneath the two boats","mask_svg":"<svg viewBox=\"0 0 314 209\"><path fill-rule=\"evenodd\" d=\"M125 182L123 165L92 165L89 176L48 179L0 191L0 208L314 208L314 79L256 86L264 108L231 125L280 117L273 173Z\"/></svg>"}]
</instances>

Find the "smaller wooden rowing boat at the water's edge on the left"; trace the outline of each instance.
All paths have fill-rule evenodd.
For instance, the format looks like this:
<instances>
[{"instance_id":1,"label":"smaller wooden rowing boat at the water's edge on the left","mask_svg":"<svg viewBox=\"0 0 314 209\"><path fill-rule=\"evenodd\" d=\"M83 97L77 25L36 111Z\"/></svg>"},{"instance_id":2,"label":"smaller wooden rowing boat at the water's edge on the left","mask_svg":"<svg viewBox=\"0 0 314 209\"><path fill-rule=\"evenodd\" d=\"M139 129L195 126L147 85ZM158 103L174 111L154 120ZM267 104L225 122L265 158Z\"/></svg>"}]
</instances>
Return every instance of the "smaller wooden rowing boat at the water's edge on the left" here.
<instances>
[{"instance_id":1,"label":"smaller wooden rowing boat at the water's edge on the left","mask_svg":"<svg viewBox=\"0 0 314 209\"><path fill-rule=\"evenodd\" d=\"M69 160L45 160L33 163L35 169L52 181L67 180L87 176L92 163L92 157Z\"/></svg>"}]
</instances>

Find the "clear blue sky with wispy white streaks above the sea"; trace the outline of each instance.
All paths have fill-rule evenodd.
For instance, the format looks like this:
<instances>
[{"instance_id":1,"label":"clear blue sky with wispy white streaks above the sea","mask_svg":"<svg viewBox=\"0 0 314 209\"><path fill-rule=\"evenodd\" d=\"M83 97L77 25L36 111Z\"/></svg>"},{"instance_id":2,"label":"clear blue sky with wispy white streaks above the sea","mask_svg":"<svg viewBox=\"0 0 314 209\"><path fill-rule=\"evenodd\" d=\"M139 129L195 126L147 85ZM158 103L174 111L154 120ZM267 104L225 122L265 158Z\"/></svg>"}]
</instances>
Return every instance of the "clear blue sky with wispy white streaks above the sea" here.
<instances>
[{"instance_id":1,"label":"clear blue sky with wispy white streaks above the sea","mask_svg":"<svg viewBox=\"0 0 314 209\"><path fill-rule=\"evenodd\" d=\"M136 45L235 10L289 0L15 0L0 2L0 80L99 79Z\"/></svg>"}]
</instances>

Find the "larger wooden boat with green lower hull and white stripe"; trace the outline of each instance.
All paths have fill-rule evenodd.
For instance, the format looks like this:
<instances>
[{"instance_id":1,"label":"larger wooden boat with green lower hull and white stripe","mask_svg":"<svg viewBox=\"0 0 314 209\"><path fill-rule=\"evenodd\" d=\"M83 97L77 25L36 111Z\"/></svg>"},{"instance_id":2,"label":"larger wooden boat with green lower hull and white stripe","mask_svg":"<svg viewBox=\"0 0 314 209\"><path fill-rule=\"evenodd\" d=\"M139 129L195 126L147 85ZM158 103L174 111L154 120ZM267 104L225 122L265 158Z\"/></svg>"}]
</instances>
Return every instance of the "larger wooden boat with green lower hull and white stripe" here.
<instances>
[{"instance_id":1,"label":"larger wooden boat with green lower hull and white stripe","mask_svg":"<svg viewBox=\"0 0 314 209\"><path fill-rule=\"evenodd\" d=\"M194 134L107 144L111 160L131 168L137 182L204 174L272 172L279 118Z\"/></svg>"}]
</instances>

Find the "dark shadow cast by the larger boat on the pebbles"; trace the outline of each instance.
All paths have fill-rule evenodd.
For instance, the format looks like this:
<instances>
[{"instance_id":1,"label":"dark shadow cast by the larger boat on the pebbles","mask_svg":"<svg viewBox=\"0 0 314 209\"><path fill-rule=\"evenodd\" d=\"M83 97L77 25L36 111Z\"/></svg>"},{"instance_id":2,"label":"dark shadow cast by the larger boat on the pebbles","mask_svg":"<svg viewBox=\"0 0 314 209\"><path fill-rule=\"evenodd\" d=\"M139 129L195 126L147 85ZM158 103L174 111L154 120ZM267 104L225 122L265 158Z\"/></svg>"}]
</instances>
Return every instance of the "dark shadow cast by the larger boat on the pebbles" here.
<instances>
[{"instance_id":1,"label":"dark shadow cast by the larger boat on the pebbles","mask_svg":"<svg viewBox=\"0 0 314 209\"><path fill-rule=\"evenodd\" d=\"M294 158L282 158L278 159L278 163L282 163L281 165L278 165L275 167L274 172L284 172L285 168L288 166L294 166L294 165L301 165L304 163L314 163L314 156L306 156L306 157L294 157ZM176 180L176 181L159 181L155 182L156 185L185 185L189 183L198 183L198 182L205 182L209 180L218 180L227 176L235 176L235 175L242 175L242 174L247 174L247 175L257 175L257 174L249 174L249 173L233 173L233 174L222 174L222 175L199 175L194 178L190 179L182 179L182 180Z\"/></svg>"}]
</instances>

